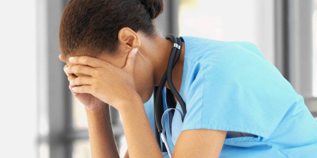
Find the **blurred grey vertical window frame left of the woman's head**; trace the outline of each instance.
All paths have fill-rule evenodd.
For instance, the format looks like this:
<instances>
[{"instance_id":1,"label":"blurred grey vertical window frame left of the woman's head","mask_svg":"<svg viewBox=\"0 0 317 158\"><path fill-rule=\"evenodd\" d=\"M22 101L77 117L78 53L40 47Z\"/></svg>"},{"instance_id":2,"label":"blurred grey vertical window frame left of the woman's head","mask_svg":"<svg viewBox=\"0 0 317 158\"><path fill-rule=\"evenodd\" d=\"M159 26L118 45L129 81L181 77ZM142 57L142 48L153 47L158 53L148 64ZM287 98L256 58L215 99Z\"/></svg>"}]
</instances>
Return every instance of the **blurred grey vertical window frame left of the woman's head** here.
<instances>
[{"instance_id":1,"label":"blurred grey vertical window frame left of the woman's head","mask_svg":"<svg viewBox=\"0 0 317 158\"><path fill-rule=\"evenodd\" d=\"M37 9L37 70L38 78L38 149L46 144L47 157L71 157L71 111L68 81L59 61L57 30L65 2L36 1ZM44 123L41 123L44 122ZM40 151L38 150L38 157Z\"/></svg>"}]
</instances>

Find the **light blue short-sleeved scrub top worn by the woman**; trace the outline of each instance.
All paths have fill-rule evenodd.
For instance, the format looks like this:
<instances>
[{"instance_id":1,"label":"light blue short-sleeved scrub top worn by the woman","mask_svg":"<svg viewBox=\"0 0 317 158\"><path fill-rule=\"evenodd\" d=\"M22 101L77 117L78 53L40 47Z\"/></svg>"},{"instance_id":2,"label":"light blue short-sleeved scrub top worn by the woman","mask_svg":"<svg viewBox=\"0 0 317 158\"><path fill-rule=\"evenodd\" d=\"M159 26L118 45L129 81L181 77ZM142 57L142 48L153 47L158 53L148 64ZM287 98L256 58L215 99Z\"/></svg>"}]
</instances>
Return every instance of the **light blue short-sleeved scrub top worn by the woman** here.
<instances>
[{"instance_id":1,"label":"light blue short-sleeved scrub top worn by the woman","mask_svg":"<svg viewBox=\"0 0 317 158\"><path fill-rule=\"evenodd\" d=\"M169 142L175 144L183 130L224 130L231 132L220 157L317 157L316 120L254 44L183 40L180 95L187 114L183 124L178 115L165 124ZM153 129L152 99L144 107Z\"/></svg>"}]
</instances>

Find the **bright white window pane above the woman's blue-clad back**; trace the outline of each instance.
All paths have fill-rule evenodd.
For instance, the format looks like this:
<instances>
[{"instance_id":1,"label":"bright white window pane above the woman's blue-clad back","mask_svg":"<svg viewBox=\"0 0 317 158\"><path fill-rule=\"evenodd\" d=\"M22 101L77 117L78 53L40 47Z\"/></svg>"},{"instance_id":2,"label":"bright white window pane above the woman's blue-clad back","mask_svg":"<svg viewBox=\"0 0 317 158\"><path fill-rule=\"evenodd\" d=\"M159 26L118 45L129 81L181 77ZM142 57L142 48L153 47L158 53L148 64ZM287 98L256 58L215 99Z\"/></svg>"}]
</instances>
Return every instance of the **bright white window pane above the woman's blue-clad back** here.
<instances>
[{"instance_id":1,"label":"bright white window pane above the woman's blue-clad back","mask_svg":"<svg viewBox=\"0 0 317 158\"><path fill-rule=\"evenodd\" d=\"M253 42L274 63L274 1L181 0L179 34Z\"/></svg>"}]
</instances>

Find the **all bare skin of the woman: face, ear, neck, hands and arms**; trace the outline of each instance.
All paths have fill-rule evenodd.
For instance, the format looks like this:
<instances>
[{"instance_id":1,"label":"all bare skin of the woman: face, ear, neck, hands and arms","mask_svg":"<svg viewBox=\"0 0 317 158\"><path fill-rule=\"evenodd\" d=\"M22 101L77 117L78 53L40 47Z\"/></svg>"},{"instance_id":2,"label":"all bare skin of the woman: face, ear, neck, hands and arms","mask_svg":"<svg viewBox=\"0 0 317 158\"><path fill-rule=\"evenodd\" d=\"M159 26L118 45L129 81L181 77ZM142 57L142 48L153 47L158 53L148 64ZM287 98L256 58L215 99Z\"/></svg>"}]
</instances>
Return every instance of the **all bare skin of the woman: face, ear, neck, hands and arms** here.
<instances>
[{"instance_id":1,"label":"all bare skin of the woman: face, ear, neck, hands and arms","mask_svg":"<svg viewBox=\"0 0 317 158\"><path fill-rule=\"evenodd\" d=\"M158 35L123 28L117 55L60 59L73 95L85 105L92 157L119 157L111 128L109 105L122 117L129 152L125 157L163 157L149 125L143 103L152 95L166 68L172 43ZM184 44L173 69L180 91ZM154 51L153 51L154 50ZM79 54L79 53L78 53ZM168 88L168 85L165 85ZM226 131L195 129L181 132L173 157L219 157Z\"/></svg>"}]
</instances>

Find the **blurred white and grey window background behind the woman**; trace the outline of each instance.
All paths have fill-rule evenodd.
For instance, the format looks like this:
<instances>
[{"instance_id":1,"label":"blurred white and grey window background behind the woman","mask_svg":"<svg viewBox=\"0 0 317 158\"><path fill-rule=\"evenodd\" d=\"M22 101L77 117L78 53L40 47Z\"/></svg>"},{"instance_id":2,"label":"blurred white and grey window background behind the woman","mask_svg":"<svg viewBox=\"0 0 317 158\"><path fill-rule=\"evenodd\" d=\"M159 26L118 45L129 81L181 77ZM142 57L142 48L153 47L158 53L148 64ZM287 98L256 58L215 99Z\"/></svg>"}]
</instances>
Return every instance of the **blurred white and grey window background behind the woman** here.
<instances>
[{"instance_id":1,"label":"blurred white and grey window background behind the woman","mask_svg":"<svg viewBox=\"0 0 317 158\"><path fill-rule=\"evenodd\" d=\"M84 107L58 59L67 3L0 1L1 157L90 157ZM255 43L317 117L317 0L171 0L155 23L162 36ZM120 117L111 111L124 151Z\"/></svg>"}]
</instances>

